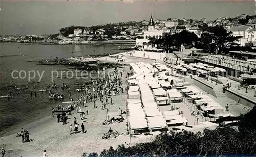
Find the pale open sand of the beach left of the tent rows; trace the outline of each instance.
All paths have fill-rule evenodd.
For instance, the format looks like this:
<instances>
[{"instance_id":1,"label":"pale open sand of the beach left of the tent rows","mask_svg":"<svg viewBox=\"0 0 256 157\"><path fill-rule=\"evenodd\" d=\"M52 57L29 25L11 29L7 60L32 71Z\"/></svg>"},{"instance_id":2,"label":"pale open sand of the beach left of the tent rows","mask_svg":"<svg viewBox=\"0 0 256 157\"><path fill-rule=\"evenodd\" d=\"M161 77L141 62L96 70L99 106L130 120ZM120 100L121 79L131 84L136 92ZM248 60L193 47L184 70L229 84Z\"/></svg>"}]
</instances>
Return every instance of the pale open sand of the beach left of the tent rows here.
<instances>
[{"instance_id":1,"label":"pale open sand of the beach left of the tent rows","mask_svg":"<svg viewBox=\"0 0 256 157\"><path fill-rule=\"evenodd\" d=\"M111 57L101 57L98 58L100 61L104 62L116 62L115 58ZM122 62L121 64L126 64L130 62L143 61L145 63L153 63L154 60L140 59L140 58L129 58ZM125 66L125 71L129 71L130 67ZM125 89L127 83L123 77L123 88ZM73 97L77 97L80 93L72 92ZM118 108L125 111L126 103L126 91L124 93L112 96L114 104L108 104L106 108L109 109L110 115L115 115L118 112ZM68 104L63 104L67 106ZM130 143L130 136L126 135L126 115L123 117L125 120L121 123L114 123L110 125L103 125L102 122L106 119L106 110L100 109L100 101L96 101L98 108L94 109L94 103L87 103L86 108L82 108L83 112L89 111L89 115L86 119L81 120L79 113L72 111L69 115L68 124L62 125L62 122L57 123L57 118L51 115L45 118L36 120L34 122L28 123L26 125L16 125L13 126L12 130L7 133L4 137L0 138L0 147L4 147L6 150L5 156L41 156L43 151L46 149L49 156L81 156L83 152L100 153L103 149L109 149L110 146L114 148L120 144ZM87 133L77 133L69 134L70 124L74 125L74 117L77 118L78 124L84 124ZM79 130L81 127L79 125ZM17 127L18 126L18 127ZM21 137L16 137L16 134L20 132L21 127L29 130L31 142L22 142ZM109 128L113 131L117 131L120 135L116 139L102 139L104 133L108 132ZM142 142L150 141L151 136L132 138L131 142Z\"/></svg>"}]
</instances>

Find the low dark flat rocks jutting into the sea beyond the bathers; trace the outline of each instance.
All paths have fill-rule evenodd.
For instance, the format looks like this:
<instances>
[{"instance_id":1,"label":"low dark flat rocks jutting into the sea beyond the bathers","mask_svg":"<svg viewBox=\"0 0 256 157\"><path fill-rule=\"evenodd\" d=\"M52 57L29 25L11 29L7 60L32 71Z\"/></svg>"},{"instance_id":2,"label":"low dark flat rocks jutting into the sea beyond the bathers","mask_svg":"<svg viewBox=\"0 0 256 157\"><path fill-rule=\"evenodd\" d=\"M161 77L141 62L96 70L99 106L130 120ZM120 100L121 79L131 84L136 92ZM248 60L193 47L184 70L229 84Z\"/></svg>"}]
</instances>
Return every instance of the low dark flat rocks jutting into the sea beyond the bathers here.
<instances>
[{"instance_id":1,"label":"low dark flat rocks jutting into the sea beyond the bathers","mask_svg":"<svg viewBox=\"0 0 256 157\"><path fill-rule=\"evenodd\" d=\"M102 68L115 68L122 66L122 64L118 64L115 62L105 62L100 61L93 58L88 59L67 59L67 58L58 58L58 59L48 59L48 60L40 60L37 61L37 64L39 65L65 65L65 66L71 66L75 67L79 70L102 70Z\"/></svg>"}]
</instances>

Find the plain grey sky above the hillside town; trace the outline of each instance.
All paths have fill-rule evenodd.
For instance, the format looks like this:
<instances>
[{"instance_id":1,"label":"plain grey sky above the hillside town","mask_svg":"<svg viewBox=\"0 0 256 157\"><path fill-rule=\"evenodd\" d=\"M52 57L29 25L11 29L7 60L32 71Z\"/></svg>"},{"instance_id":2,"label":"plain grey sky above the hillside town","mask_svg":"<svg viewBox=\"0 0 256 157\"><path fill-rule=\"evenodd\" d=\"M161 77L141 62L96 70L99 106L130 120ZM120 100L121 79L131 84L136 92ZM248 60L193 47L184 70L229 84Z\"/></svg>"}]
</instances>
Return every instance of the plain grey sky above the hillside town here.
<instances>
[{"instance_id":1,"label":"plain grey sky above the hillside town","mask_svg":"<svg viewBox=\"0 0 256 157\"><path fill-rule=\"evenodd\" d=\"M70 25L187 18L215 20L239 14L255 15L254 1L72 1L0 0L0 35L56 34Z\"/></svg>"}]
</instances>

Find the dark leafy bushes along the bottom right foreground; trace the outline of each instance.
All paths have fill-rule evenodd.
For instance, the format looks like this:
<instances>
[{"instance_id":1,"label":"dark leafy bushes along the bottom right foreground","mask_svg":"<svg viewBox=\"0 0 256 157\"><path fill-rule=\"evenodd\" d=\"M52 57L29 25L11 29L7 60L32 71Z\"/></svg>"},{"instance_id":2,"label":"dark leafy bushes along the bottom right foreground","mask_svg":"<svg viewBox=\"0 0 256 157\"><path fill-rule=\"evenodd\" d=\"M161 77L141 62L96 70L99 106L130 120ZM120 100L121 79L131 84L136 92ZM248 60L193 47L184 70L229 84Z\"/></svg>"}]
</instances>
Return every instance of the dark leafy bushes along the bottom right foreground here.
<instances>
[{"instance_id":1,"label":"dark leafy bushes along the bottom right foreground","mask_svg":"<svg viewBox=\"0 0 256 157\"><path fill-rule=\"evenodd\" d=\"M100 154L88 156L255 156L256 154L256 108L240 116L239 129L219 126L202 133L171 132L160 134L155 140L135 146L110 147ZM82 156L86 156L84 153Z\"/></svg>"}]
</instances>

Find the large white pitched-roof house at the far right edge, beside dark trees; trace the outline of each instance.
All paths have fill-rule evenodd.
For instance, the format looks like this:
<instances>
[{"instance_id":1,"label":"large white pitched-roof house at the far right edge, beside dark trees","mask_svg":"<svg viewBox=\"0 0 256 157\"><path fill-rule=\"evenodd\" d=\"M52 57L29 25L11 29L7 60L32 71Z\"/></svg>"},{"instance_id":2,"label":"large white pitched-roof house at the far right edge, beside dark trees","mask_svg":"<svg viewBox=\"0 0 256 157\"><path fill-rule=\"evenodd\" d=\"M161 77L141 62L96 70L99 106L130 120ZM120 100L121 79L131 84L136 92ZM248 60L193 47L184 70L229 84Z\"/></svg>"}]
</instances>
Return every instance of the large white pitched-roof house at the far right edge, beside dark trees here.
<instances>
[{"instance_id":1,"label":"large white pitched-roof house at the far right edge, beside dark trees","mask_svg":"<svg viewBox=\"0 0 256 157\"><path fill-rule=\"evenodd\" d=\"M240 44L241 46L245 46L246 42L250 42L250 40L251 40L251 42L255 41L254 32L250 31L250 30L252 30L252 27L250 25L240 25L240 26L236 26L236 27L231 27L228 30L228 32L231 31L232 35L236 36L236 37L241 36L239 41L237 41L236 43Z\"/></svg>"}]
</instances>

